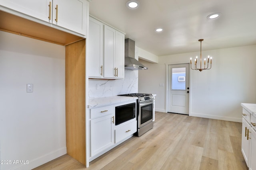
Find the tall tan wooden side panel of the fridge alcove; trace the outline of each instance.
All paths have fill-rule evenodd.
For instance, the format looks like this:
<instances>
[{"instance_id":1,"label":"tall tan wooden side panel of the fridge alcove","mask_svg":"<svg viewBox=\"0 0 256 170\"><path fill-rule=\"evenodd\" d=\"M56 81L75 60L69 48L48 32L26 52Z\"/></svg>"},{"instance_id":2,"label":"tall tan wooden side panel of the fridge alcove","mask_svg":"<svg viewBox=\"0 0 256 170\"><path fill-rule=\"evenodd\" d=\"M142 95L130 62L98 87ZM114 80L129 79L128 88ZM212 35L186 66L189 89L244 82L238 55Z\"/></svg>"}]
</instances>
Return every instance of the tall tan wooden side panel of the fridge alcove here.
<instances>
[{"instance_id":1,"label":"tall tan wooden side panel of the fridge alcove","mask_svg":"<svg viewBox=\"0 0 256 170\"><path fill-rule=\"evenodd\" d=\"M85 39L66 45L67 153L86 165Z\"/></svg>"}]
</instances>

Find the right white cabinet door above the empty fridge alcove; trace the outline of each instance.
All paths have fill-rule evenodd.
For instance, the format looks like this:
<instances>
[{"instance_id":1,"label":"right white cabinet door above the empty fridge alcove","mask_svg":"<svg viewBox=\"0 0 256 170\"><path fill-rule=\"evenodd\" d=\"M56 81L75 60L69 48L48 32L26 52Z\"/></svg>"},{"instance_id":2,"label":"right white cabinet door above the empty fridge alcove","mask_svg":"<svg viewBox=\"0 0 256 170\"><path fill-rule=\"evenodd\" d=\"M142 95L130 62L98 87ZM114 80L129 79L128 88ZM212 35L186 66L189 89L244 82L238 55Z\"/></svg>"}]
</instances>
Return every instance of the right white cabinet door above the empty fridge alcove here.
<instances>
[{"instance_id":1,"label":"right white cabinet door above the empty fridge alcove","mask_svg":"<svg viewBox=\"0 0 256 170\"><path fill-rule=\"evenodd\" d=\"M86 0L54 0L52 23L86 35L87 3Z\"/></svg>"}]
</instances>

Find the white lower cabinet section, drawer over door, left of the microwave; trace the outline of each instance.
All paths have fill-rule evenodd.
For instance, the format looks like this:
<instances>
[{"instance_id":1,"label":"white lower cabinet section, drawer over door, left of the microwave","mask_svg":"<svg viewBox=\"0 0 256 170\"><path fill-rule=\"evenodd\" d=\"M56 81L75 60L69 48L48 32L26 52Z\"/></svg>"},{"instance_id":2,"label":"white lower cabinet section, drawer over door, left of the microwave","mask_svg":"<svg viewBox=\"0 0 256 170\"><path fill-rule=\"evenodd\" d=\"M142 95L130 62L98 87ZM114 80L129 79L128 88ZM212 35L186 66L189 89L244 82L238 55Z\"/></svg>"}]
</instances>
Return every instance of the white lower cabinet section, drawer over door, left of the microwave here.
<instances>
[{"instance_id":1,"label":"white lower cabinet section, drawer over door, left of the microwave","mask_svg":"<svg viewBox=\"0 0 256 170\"><path fill-rule=\"evenodd\" d=\"M90 110L90 156L114 145L114 106Z\"/></svg>"}]
</instances>

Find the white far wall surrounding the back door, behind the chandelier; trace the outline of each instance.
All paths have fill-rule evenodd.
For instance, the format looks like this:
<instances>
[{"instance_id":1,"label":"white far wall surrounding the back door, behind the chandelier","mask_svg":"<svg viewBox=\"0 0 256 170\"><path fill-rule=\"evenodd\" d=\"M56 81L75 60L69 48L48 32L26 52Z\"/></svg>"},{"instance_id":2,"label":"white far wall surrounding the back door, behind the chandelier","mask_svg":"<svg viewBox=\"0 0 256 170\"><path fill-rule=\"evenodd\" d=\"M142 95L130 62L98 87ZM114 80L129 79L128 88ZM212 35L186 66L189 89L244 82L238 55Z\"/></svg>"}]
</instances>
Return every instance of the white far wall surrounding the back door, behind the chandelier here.
<instances>
[{"instance_id":1,"label":"white far wall surrounding the back door, behind the chandelier","mask_svg":"<svg viewBox=\"0 0 256 170\"><path fill-rule=\"evenodd\" d=\"M138 92L157 94L156 111L166 110L166 65L189 63L198 53L161 56L158 64L141 60L149 69L139 72ZM202 51L208 54L212 69L190 70L190 115L241 122L240 103L256 103L256 45Z\"/></svg>"}]
</instances>

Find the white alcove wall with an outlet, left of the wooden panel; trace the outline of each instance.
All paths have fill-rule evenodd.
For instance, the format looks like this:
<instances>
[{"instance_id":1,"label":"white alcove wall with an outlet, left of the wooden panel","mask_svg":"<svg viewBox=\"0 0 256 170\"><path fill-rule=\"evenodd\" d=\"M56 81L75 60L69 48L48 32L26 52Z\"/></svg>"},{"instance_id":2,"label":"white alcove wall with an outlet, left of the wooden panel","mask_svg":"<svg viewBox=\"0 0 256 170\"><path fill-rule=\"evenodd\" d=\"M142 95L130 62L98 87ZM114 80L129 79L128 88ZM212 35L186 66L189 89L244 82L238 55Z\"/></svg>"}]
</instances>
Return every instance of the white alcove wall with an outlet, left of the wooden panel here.
<instances>
[{"instance_id":1,"label":"white alcove wall with an outlet, left of the wooden panel","mask_svg":"<svg viewBox=\"0 0 256 170\"><path fill-rule=\"evenodd\" d=\"M1 160L29 161L2 170L66 154L64 46L0 31L0 144Z\"/></svg>"}]
</instances>

